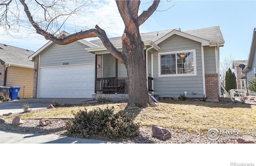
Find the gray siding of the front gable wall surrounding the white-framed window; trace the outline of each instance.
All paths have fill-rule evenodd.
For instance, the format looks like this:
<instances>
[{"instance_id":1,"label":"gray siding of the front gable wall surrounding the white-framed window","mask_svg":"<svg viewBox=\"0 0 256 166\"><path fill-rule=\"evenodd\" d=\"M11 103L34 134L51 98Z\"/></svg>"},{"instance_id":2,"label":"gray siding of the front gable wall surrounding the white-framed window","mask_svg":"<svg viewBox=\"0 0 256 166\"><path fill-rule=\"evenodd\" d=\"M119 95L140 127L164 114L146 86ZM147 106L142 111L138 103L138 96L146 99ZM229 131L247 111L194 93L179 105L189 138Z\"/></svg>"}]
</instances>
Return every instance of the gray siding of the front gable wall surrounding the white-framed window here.
<instances>
[{"instance_id":1,"label":"gray siding of the front gable wall surrounding the white-framed window","mask_svg":"<svg viewBox=\"0 0 256 166\"><path fill-rule=\"evenodd\" d=\"M187 91L188 98L202 98L203 94L203 76L202 76L202 53L201 43L172 35L158 46L161 48L159 53L196 50L196 76L171 76L158 77L158 52L154 52L154 94L160 97L179 97ZM192 94L196 92L196 94Z\"/></svg>"}]
</instances>

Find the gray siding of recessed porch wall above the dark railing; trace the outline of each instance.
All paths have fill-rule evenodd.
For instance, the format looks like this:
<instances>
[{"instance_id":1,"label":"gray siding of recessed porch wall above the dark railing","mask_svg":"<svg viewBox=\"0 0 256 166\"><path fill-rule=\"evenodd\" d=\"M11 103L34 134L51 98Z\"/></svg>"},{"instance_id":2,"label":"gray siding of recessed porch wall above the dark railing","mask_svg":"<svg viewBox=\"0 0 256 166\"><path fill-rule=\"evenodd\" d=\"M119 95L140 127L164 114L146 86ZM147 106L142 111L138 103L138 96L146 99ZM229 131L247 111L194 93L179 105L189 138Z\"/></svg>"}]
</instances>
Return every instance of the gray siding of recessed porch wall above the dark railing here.
<instances>
[{"instance_id":1,"label":"gray siding of recessed porch wall above the dark railing","mask_svg":"<svg viewBox=\"0 0 256 166\"><path fill-rule=\"evenodd\" d=\"M121 61L117 62L118 77L127 77L126 67ZM103 55L103 77L116 76L116 59L111 54Z\"/></svg>"}]
</instances>

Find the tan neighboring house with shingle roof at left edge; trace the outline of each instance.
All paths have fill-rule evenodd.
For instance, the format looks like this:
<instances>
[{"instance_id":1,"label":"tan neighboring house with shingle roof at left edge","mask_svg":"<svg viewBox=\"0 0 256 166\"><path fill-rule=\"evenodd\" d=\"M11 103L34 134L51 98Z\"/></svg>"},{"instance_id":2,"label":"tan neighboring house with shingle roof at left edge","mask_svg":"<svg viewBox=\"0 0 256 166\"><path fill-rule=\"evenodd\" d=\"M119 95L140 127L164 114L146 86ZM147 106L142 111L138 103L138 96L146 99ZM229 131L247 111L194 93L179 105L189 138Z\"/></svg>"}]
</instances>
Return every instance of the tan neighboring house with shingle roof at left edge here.
<instances>
[{"instance_id":1,"label":"tan neighboring house with shingle roof at left edge","mask_svg":"<svg viewBox=\"0 0 256 166\"><path fill-rule=\"evenodd\" d=\"M28 57L34 51L0 44L0 86L20 86L19 98L32 98L34 62Z\"/></svg>"}]
</instances>

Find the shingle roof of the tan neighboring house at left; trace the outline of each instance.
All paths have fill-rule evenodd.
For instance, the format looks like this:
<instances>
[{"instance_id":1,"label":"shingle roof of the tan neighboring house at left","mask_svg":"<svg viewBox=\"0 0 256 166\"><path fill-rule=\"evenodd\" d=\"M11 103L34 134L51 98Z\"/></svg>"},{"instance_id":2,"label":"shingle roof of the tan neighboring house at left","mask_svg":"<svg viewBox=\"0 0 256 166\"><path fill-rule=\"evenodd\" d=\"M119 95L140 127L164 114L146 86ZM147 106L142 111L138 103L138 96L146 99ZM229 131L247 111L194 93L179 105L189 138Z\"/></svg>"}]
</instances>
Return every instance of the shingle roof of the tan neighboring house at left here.
<instances>
[{"instance_id":1,"label":"shingle roof of the tan neighboring house at left","mask_svg":"<svg viewBox=\"0 0 256 166\"><path fill-rule=\"evenodd\" d=\"M28 57L33 53L34 51L0 43L0 62L2 64L34 68L34 62L28 61Z\"/></svg>"}]
</instances>

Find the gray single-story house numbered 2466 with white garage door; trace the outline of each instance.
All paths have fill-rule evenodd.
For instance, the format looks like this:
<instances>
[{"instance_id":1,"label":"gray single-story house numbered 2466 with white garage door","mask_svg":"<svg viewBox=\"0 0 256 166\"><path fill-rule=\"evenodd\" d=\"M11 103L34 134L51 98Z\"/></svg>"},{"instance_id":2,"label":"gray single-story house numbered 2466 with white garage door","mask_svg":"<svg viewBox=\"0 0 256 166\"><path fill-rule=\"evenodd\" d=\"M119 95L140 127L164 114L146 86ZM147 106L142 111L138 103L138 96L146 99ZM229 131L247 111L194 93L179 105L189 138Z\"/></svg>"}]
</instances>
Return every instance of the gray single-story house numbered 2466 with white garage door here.
<instances>
[{"instance_id":1,"label":"gray single-story house numbered 2466 with white garage door","mask_svg":"<svg viewBox=\"0 0 256 166\"><path fill-rule=\"evenodd\" d=\"M224 46L220 27L168 29L141 33L141 37L151 93L172 98L186 91L188 98L219 100L219 47ZM110 41L122 50L121 37ZM29 60L34 61L36 70L34 98L92 98L109 92L111 86L106 85L112 79L124 80L124 91L113 93L128 93L124 64L110 55L100 40L68 45L49 41Z\"/></svg>"}]
</instances>

